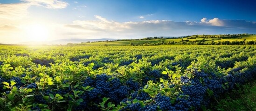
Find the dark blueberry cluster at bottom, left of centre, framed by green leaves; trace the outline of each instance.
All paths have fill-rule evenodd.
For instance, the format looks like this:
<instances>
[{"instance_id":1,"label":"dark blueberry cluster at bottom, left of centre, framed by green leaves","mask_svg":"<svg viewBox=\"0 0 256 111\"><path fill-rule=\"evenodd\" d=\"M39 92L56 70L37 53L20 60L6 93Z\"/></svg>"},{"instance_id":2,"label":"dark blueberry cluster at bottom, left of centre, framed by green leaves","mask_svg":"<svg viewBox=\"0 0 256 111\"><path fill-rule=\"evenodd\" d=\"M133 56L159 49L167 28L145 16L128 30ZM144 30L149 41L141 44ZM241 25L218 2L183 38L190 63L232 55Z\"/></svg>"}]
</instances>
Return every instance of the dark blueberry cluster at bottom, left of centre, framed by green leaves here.
<instances>
[{"instance_id":1,"label":"dark blueberry cluster at bottom, left of centre, framed by green leaves","mask_svg":"<svg viewBox=\"0 0 256 111\"><path fill-rule=\"evenodd\" d=\"M139 83L132 79L122 83L118 78L110 75L100 74L95 77L87 77L82 86L94 87L92 90L84 92L80 98L83 102L76 108L77 110L98 110L98 104L102 102L102 98L110 98L109 100L118 105L121 100L127 98L132 90L138 90Z\"/></svg>"}]
</instances>

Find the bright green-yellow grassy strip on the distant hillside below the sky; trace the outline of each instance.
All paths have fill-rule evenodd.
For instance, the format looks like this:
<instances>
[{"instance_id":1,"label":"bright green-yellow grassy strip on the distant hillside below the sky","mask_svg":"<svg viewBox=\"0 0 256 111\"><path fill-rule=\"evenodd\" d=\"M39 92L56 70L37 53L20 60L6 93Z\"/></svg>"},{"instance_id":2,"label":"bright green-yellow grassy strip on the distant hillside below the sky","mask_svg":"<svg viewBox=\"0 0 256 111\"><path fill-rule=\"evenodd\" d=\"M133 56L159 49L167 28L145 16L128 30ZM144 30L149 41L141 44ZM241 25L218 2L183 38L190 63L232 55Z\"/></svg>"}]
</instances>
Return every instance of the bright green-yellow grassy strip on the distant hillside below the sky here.
<instances>
[{"instance_id":1,"label":"bright green-yellow grassy strip on the distant hillside below the sky","mask_svg":"<svg viewBox=\"0 0 256 111\"><path fill-rule=\"evenodd\" d=\"M215 35L215 37L218 37L220 35ZM192 36L193 37L193 36ZM124 45L129 45L130 43L136 44L136 43L159 43L159 42L181 42L181 40L189 40L189 41L202 41L203 37L202 35L199 35L198 37L194 39L187 39L188 37L185 38L170 38L170 39L152 39L152 40L127 40L127 41L113 41L113 42L95 42L95 43L81 43L84 46L124 46ZM247 35L247 36L242 36L240 37L233 37L233 38L205 38L206 43L211 43L212 41L218 42L218 41L243 41L246 39L246 41L255 41L256 40L256 35Z\"/></svg>"}]
</instances>

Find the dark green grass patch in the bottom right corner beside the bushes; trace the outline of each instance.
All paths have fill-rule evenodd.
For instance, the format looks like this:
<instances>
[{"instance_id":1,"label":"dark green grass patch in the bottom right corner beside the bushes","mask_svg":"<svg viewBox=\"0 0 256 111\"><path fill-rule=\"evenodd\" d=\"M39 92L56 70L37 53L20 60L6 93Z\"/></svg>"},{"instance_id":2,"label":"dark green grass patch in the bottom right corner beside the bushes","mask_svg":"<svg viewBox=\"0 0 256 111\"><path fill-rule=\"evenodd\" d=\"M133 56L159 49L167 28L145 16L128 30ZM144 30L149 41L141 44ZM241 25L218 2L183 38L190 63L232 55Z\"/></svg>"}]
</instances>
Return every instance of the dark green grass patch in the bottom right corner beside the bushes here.
<instances>
[{"instance_id":1,"label":"dark green grass patch in the bottom right corner beside the bushes","mask_svg":"<svg viewBox=\"0 0 256 111\"><path fill-rule=\"evenodd\" d=\"M208 111L256 111L256 81L240 86L238 90L232 90L226 95L225 98L216 100Z\"/></svg>"}]
</instances>

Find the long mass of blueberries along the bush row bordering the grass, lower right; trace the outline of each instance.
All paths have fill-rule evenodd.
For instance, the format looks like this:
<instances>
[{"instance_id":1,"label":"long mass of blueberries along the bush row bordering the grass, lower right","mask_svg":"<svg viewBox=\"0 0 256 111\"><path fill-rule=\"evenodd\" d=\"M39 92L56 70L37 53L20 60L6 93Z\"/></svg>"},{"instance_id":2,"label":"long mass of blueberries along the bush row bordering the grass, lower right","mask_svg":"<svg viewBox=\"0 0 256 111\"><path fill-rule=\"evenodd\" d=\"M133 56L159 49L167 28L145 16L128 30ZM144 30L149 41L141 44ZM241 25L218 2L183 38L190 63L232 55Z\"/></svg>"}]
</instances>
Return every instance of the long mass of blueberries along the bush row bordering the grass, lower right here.
<instances>
[{"instance_id":1,"label":"long mass of blueberries along the bush row bordering the grass, lower right","mask_svg":"<svg viewBox=\"0 0 256 111\"><path fill-rule=\"evenodd\" d=\"M180 94L174 99L174 104L171 104L171 98L160 93L151 98L148 93L138 90L131 93L130 98L121 101L126 104L121 111L200 111L201 105L208 106L213 98L219 98L222 93L233 89L235 84L244 84L248 80L253 80L255 78L253 75L256 72L255 69L235 72L226 76L214 73L206 74L196 68L193 68L193 70L187 69L192 74L192 78L189 79L186 75L180 77L180 81L183 84L180 87ZM148 75L159 77L159 74L153 72L157 71L152 71ZM170 84L169 87L174 86ZM145 88L147 88L147 85ZM134 99L144 101L144 104L146 100L154 100L154 102L145 104L142 107L139 102L132 102Z\"/></svg>"}]
</instances>

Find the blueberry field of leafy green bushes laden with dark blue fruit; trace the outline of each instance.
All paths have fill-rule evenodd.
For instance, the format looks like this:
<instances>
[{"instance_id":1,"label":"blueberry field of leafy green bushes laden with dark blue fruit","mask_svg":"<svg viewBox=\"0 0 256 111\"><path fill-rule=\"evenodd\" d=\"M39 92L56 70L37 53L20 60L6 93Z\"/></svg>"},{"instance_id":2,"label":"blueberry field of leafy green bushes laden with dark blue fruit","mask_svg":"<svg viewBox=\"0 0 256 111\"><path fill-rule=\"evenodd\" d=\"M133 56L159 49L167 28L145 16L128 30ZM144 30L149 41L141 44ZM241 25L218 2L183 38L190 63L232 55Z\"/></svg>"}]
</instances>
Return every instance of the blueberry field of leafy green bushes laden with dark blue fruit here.
<instances>
[{"instance_id":1,"label":"blueberry field of leafy green bushes laden with dark blue fruit","mask_svg":"<svg viewBox=\"0 0 256 111\"><path fill-rule=\"evenodd\" d=\"M3 111L204 111L255 79L256 45L0 46Z\"/></svg>"}]
</instances>

